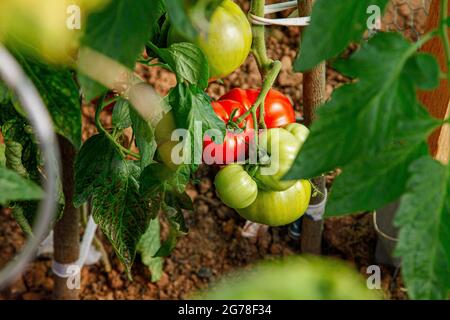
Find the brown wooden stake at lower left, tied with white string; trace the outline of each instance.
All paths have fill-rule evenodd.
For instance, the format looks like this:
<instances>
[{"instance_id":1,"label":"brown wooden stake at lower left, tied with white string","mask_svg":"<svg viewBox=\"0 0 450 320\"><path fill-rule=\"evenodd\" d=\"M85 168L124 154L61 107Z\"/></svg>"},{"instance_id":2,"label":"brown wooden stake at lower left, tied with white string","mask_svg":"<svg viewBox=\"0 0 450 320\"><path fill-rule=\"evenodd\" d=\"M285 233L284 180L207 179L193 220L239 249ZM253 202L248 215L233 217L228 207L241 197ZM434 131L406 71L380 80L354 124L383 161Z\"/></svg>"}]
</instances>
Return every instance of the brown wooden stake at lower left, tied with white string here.
<instances>
[{"instance_id":1,"label":"brown wooden stake at lower left, tied with white string","mask_svg":"<svg viewBox=\"0 0 450 320\"><path fill-rule=\"evenodd\" d=\"M53 234L54 259L60 264L70 264L78 260L80 253L80 214L73 205L75 148L65 138L58 136L62 163L62 181L65 198L63 216L55 224ZM54 275L55 300L77 300L79 289L68 286L68 278Z\"/></svg>"}]
</instances>

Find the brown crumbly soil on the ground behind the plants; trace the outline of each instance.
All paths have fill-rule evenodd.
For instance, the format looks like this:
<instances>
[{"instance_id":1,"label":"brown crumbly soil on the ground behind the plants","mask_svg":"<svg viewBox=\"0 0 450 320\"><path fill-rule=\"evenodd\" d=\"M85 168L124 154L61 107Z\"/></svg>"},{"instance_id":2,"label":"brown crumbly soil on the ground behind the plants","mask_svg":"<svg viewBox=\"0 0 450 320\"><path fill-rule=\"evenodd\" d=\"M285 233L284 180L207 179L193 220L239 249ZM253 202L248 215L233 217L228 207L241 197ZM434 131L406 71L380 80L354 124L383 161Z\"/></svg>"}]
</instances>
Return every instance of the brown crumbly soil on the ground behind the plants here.
<instances>
[{"instance_id":1,"label":"brown crumbly soil on the ground behind the plants","mask_svg":"<svg viewBox=\"0 0 450 320\"><path fill-rule=\"evenodd\" d=\"M247 3L247 2L246 2ZM287 94L297 110L302 106L301 74L292 72L292 63L298 48L297 28L273 28L268 34L269 56L283 64L275 87ZM160 68L137 66L141 74L156 90L164 95L175 85L175 78ZM211 83L208 94L218 98L232 87L260 86L260 76L253 57L223 83ZM346 79L327 70L327 95ZM83 138L95 133L93 109L85 106ZM108 119L105 118L107 121ZM262 259L299 254L299 243L287 236L286 227L270 228L258 240L241 236L245 221L232 209L222 205L215 197L210 172L206 167L198 173L200 182L190 186L195 212L186 214L189 234L181 238L172 255L165 259L164 273L156 282L150 282L150 273L136 259L133 281L127 279L124 268L104 241L112 262L107 273L101 263L87 266L82 271L82 299L184 299L208 287L222 275L237 268L246 268ZM332 176L329 177L332 180ZM324 255L334 256L352 263L366 275L366 267L375 264L376 232L371 214L358 214L325 221L323 235ZM23 246L24 237L9 210L0 212L0 267L6 264ZM38 258L9 288L0 292L2 299L50 299L53 280L48 258ZM401 277L393 277L394 270L382 267L382 285L385 297L407 298Z\"/></svg>"}]
</instances>

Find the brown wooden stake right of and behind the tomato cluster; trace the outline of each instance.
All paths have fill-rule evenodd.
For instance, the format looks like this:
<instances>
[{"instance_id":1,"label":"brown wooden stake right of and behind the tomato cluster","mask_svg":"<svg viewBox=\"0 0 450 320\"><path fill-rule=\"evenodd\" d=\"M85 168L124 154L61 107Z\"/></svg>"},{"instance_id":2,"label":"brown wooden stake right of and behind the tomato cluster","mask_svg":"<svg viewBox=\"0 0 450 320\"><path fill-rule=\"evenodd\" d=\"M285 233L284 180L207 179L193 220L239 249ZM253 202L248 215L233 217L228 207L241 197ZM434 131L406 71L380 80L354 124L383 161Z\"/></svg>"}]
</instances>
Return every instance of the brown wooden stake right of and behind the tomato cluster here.
<instances>
[{"instance_id":1,"label":"brown wooden stake right of and behind the tomato cluster","mask_svg":"<svg viewBox=\"0 0 450 320\"><path fill-rule=\"evenodd\" d=\"M313 3L314 0L298 0L299 16L310 16ZM324 102L325 68L325 62L323 62L303 75L303 112L307 126L310 126L314 121L316 109ZM318 204L322 202L325 194L325 177L317 177L311 182L319 190L311 197L311 204ZM321 254L322 232L323 220L313 221L305 217L302 222L302 236L300 238L301 251Z\"/></svg>"}]
</instances>

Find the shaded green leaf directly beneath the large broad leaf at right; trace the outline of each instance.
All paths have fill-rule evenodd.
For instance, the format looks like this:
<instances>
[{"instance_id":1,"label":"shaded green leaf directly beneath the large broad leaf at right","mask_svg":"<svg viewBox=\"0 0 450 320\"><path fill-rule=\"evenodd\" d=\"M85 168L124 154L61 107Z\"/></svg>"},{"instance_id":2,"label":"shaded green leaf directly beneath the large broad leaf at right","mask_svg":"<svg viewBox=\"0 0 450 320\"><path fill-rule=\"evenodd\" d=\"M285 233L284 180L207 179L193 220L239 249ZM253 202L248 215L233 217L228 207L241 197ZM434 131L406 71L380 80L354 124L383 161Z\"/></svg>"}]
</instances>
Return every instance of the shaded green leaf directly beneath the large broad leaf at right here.
<instances>
[{"instance_id":1,"label":"shaded green leaf directly beneath the large broad leaf at right","mask_svg":"<svg viewBox=\"0 0 450 320\"><path fill-rule=\"evenodd\" d=\"M397 199L405 191L410 164L427 152L425 143L397 144L344 166L333 182L326 216L375 210Z\"/></svg>"}]
</instances>

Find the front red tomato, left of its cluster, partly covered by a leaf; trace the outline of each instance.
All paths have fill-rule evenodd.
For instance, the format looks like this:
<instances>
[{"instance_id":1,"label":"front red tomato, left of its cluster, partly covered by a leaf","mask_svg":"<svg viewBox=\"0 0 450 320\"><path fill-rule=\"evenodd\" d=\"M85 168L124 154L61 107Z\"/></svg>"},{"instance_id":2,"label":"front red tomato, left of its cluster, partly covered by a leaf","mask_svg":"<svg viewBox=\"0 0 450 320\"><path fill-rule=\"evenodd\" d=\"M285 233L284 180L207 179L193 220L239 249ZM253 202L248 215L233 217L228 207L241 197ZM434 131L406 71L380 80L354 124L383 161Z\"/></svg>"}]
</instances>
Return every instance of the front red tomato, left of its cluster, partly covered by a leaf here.
<instances>
[{"instance_id":1,"label":"front red tomato, left of its cluster, partly covered by a leaf","mask_svg":"<svg viewBox=\"0 0 450 320\"><path fill-rule=\"evenodd\" d=\"M216 115L225 123L230 120L233 110L236 110L233 120L239 118L247 109L239 102L232 100L221 100L212 102ZM224 142L216 144L211 137L205 136L203 141L203 162L206 164L229 164L243 161L248 152L249 139L252 136L253 121L248 116L241 124L242 131L227 129ZM217 152L216 152L217 151Z\"/></svg>"}]
</instances>

